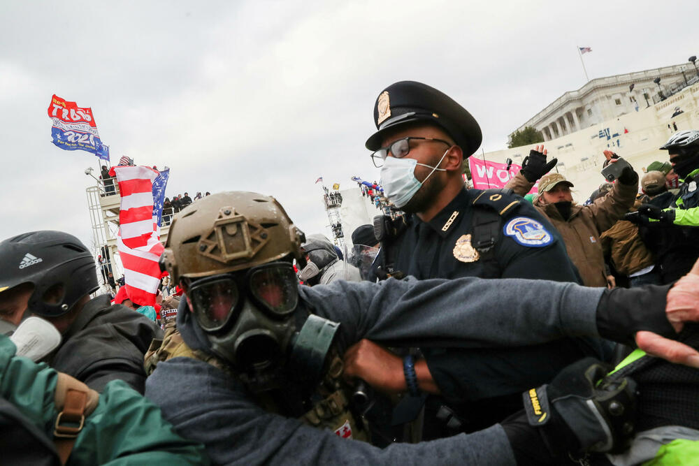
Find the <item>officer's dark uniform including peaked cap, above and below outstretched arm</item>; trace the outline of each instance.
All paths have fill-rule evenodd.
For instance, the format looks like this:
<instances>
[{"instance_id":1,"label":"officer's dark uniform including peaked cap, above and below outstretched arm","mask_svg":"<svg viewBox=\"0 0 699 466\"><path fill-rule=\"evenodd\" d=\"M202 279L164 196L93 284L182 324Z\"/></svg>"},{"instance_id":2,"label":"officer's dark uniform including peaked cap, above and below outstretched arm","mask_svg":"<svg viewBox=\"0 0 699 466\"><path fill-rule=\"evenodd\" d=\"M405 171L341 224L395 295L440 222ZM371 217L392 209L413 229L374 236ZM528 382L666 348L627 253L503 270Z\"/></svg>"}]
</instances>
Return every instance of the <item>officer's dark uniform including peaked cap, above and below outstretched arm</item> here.
<instances>
[{"instance_id":1,"label":"officer's dark uniform including peaked cap, above and below outstretched arm","mask_svg":"<svg viewBox=\"0 0 699 466\"><path fill-rule=\"evenodd\" d=\"M368 150L380 150L393 131L415 124L443 129L464 157L482 142L480 126L465 108L420 82L390 85L377 96L373 113L377 131L366 140ZM386 234L379 238L382 247L375 263L380 276L403 272L419 279L521 277L581 282L559 233L533 205L509 190L463 189L431 221L408 216L402 222L382 222ZM579 358L601 358L603 345L600 340L576 338L533 347L422 352L448 405L428 398L422 438L431 439L501 421L521 409L521 392L547 383Z\"/></svg>"}]
</instances>

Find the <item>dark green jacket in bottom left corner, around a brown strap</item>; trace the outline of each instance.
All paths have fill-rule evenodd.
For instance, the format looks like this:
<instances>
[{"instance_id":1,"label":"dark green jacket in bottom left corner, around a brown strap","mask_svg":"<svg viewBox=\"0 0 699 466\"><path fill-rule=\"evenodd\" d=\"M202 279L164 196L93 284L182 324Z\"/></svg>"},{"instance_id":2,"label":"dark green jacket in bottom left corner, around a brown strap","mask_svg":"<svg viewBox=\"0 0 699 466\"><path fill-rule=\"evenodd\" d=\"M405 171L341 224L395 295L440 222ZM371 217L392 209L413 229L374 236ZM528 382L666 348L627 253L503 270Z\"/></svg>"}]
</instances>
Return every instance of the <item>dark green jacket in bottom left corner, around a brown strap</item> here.
<instances>
[{"instance_id":1,"label":"dark green jacket in bottom left corner, around a brown strap","mask_svg":"<svg viewBox=\"0 0 699 466\"><path fill-rule=\"evenodd\" d=\"M15 356L17 348L0 335L0 397L53 438L58 415L54 393L58 373L45 363ZM124 381L110 381L87 416L68 465L208 465L203 446L177 435L160 409Z\"/></svg>"}]
</instances>

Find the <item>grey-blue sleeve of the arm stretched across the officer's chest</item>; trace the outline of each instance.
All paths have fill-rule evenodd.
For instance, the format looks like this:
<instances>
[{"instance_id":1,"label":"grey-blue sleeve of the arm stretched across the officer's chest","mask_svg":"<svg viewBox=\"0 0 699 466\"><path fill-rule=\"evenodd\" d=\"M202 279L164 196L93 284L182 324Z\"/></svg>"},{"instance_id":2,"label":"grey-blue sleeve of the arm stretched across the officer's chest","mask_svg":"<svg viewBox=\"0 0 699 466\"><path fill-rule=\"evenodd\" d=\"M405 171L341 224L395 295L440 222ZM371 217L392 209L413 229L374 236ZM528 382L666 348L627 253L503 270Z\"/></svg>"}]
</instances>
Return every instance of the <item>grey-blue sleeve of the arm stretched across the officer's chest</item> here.
<instances>
[{"instance_id":1,"label":"grey-blue sleeve of the arm stretched across the officer's chest","mask_svg":"<svg viewBox=\"0 0 699 466\"><path fill-rule=\"evenodd\" d=\"M299 289L316 314L342 323L338 343L343 351L362 338L389 346L482 348L596 337L595 312L603 291L545 280L474 277L339 281Z\"/></svg>"}]
</instances>

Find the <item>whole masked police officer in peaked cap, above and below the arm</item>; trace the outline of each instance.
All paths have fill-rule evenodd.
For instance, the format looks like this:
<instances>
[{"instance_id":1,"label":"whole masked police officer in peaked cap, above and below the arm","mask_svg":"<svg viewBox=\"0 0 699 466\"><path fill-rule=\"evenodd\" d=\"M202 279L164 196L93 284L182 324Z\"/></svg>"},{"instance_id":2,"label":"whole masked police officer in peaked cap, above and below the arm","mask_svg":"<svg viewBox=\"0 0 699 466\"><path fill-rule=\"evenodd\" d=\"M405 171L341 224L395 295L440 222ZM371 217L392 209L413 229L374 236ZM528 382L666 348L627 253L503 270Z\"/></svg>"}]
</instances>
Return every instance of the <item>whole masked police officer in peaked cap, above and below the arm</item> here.
<instances>
[{"instance_id":1,"label":"whole masked police officer in peaked cap, above and below the arm","mask_svg":"<svg viewBox=\"0 0 699 466\"><path fill-rule=\"evenodd\" d=\"M558 231L531 203L510 190L465 189L463 161L477 150L482 136L475 119L459 103L420 82L402 81L380 92L373 115L377 131L366 140L366 147L381 168L384 194L408 213L405 220L382 221L379 273L418 279L521 277L579 282ZM523 170L538 179L555 163L528 157ZM391 360L382 349L374 349L377 361ZM603 358L600 342L561 340L517 353L428 351L426 359L415 363L415 371L434 379L449 400L449 409L458 405L460 412L468 412L458 423L452 416L442 416L445 423L473 430L517 409L524 386L543 383L584 356ZM412 361L406 358L404 363L406 373L412 373ZM479 402L464 404L464 400ZM440 405L428 405L434 416ZM426 425L434 416L426 416ZM440 425L431 425L426 435L455 432Z\"/></svg>"}]
</instances>

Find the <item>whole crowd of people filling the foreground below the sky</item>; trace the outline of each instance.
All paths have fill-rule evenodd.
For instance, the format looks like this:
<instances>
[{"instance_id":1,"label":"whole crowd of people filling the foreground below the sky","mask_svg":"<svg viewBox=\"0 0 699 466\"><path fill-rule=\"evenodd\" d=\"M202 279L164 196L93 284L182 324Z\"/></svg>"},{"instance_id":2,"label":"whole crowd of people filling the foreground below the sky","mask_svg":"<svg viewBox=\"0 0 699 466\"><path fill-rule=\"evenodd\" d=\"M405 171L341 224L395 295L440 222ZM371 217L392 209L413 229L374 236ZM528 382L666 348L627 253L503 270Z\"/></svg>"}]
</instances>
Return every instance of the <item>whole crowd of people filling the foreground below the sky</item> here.
<instances>
[{"instance_id":1,"label":"whole crowd of people filling the foreground below the sky","mask_svg":"<svg viewBox=\"0 0 699 466\"><path fill-rule=\"evenodd\" d=\"M605 187L579 205L541 145L507 189L466 189L480 126L437 89L397 82L373 115L401 214L352 233L370 261L243 191L177 217L156 303L91 298L94 258L68 233L0 242L21 264L0 270L0 414L5 445L27 445L3 460L696 459L699 131L642 177L600 154ZM677 188L651 170L668 165ZM50 349L33 319L61 335Z\"/></svg>"}]
</instances>

